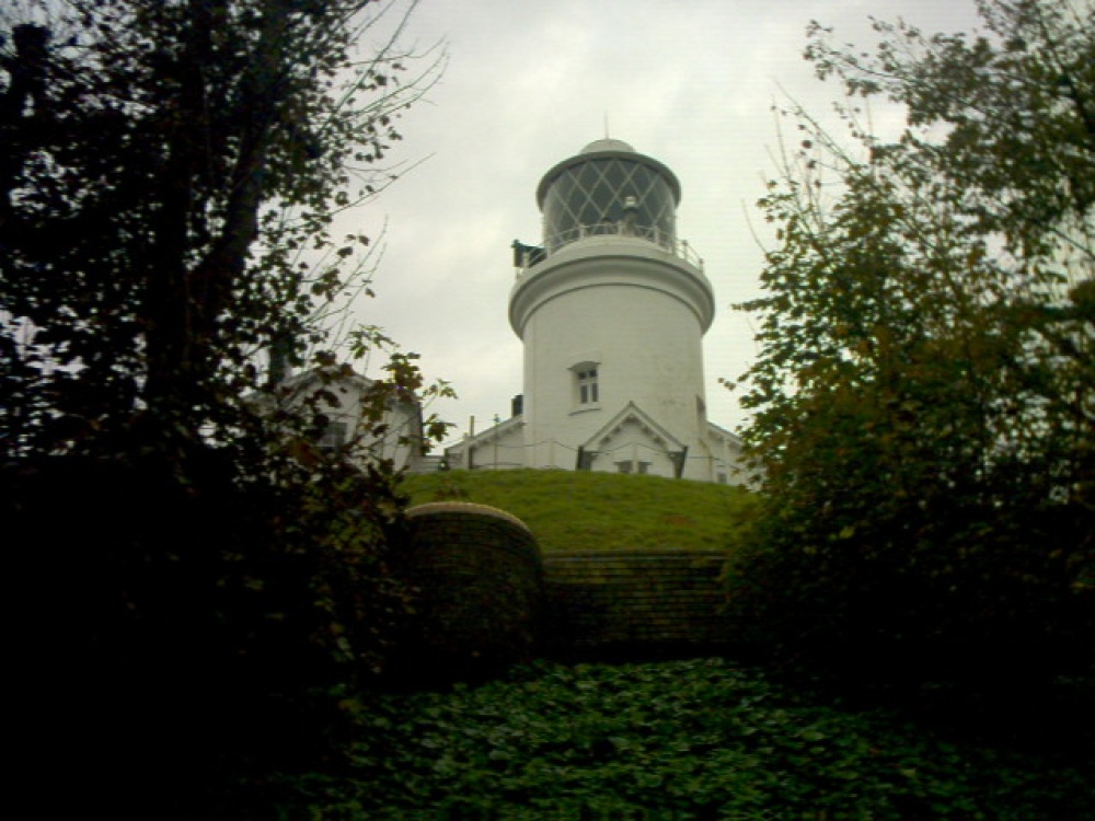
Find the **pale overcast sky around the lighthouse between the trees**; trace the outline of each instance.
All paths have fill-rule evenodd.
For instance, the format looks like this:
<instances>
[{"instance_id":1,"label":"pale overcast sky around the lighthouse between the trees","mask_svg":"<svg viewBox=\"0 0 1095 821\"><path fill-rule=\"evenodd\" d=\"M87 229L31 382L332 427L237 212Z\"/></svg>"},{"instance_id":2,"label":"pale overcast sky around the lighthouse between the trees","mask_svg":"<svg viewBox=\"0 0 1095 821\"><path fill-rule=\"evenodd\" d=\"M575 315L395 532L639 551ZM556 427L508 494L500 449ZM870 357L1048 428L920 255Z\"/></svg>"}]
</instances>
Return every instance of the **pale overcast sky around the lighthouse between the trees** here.
<instances>
[{"instance_id":1,"label":"pale overcast sky around the lighthouse between the trees","mask_svg":"<svg viewBox=\"0 0 1095 821\"><path fill-rule=\"evenodd\" d=\"M869 16L970 31L972 0L423 0L407 30L443 39L449 66L402 120L392 157L417 162L354 213L387 224L374 299L361 322L422 355L459 400L430 410L483 430L521 392L509 327L510 243L540 241L535 188L556 162L609 135L660 160L683 195L678 233L703 257L717 313L704 342L712 421L745 419L718 385L756 352L734 303L758 294L769 234L757 199L774 170L773 103L829 111L840 94L802 59L811 19L840 41L872 42ZM370 375L374 375L370 373Z\"/></svg>"}]
</instances>

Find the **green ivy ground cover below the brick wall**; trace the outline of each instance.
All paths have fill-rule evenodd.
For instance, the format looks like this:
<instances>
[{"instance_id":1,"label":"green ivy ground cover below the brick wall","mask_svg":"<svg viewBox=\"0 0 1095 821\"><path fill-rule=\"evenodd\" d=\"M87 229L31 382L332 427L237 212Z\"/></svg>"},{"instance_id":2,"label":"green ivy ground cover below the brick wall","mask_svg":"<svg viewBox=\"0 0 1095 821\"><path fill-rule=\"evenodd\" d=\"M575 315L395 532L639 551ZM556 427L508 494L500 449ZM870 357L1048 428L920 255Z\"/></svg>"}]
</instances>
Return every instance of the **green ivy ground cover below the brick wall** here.
<instances>
[{"instance_id":1,"label":"green ivy ground cover below the brick wall","mask_svg":"<svg viewBox=\"0 0 1095 821\"><path fill-rule=\"evenodd\" d=\"M313 819L1088 819L1090 760L821 705L723 659L538 663L362 699Z\"/></svg>"}]
</instances>

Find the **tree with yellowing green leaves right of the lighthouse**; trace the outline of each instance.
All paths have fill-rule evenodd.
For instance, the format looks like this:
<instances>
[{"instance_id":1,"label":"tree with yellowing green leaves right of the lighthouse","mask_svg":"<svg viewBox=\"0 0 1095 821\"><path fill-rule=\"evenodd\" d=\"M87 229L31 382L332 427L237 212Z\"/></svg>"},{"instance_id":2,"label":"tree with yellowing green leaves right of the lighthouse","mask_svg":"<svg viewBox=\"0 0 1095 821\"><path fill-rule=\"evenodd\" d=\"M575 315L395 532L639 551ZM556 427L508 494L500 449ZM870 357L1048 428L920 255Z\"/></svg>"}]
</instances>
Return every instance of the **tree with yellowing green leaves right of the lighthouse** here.
<instances>
[{"instance_id":1,"label":"tree with yellowing green leaves right of the lighthouse","mask_svg":"<svg viewBox=\"0 0 1095 821\"><path fill-rule=\"evenodd\" d=\"M1090 672L1095 647L1095 10L978 10L976 36L876 22L873 55L811 26L853 148L792 111L742 307L769 516L731 605L875 682Z\"/></svg>"}]
</instances>

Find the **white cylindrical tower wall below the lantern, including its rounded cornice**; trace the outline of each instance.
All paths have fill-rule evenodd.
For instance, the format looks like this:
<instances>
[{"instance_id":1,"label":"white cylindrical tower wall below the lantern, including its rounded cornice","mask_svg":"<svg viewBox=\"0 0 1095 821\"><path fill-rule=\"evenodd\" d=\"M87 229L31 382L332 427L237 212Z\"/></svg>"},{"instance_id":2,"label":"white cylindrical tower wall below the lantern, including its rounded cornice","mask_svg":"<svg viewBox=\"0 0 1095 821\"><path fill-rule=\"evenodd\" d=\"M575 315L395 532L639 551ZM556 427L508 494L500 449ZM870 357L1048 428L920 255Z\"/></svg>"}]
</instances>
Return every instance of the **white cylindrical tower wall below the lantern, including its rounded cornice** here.
<instances>
[{"instance_id":1,"label":"white cylindrical tower wall below the lantern, including its rounded cornice","mask_svg":"<svg viewBox=\"0 0 1095 821\"><path fill-rule=\"evenodd\" d=\"M713 315L702 271L642 240L590 238L528 269L510 294L510 323L525 343L529 465L572 467L566 449L629 402L696 447L705 424L702 338ZM577 402L581 363L597 367L596 406Z\"/></svg>"}]
</instances>

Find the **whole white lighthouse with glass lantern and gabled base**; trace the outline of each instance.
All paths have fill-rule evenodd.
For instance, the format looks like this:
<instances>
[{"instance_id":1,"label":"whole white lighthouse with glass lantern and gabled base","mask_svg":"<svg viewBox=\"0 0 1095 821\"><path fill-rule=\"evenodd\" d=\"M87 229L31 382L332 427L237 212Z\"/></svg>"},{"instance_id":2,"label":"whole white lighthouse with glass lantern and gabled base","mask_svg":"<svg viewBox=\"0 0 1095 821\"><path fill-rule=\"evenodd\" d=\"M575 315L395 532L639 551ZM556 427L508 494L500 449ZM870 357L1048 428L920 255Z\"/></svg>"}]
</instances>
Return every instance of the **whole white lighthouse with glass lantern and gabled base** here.
<instances>
[{"instance_id":1,"label":"whole white lighthouse with glass lantern and gabled base","mask_svg":"<svg viewBox=\"0 0 1095 821\"><path fill-rule=\"evenodd\" d=\"M707 420L715 301L677 233L662 163L603 139L537 189L541 245L515 243L509 323L525 345L514 415L453 449L468 467L561 467L734 482L737 438Z\"/></svg>"}]
</instances>

